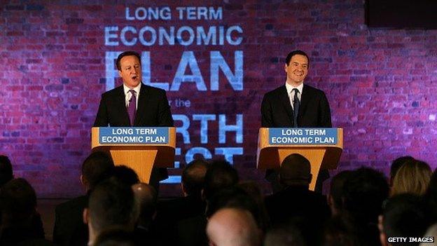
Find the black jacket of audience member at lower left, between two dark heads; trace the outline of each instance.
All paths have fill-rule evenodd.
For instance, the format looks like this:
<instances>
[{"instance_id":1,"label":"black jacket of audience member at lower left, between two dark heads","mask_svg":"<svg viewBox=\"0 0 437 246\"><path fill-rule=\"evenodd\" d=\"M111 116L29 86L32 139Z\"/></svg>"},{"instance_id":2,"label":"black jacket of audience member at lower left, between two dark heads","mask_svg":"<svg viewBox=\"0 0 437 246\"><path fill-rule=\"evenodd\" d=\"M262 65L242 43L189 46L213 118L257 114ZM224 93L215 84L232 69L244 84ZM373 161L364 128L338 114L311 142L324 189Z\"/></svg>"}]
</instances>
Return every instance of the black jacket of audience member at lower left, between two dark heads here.
<instances>
[{"instance_id":1,"label":"black jacket of audience member at lower left, between two dark heads","mask_svg":"<svg viewBox=\"0 0 437 246\"><path fill-rule=\"evenodd\" d=\"M55 208L53 242L57 245L86 245L88 226L83 223L83 209L88 206L88 196L79 196Z\"/></svg>"}]
</instances>

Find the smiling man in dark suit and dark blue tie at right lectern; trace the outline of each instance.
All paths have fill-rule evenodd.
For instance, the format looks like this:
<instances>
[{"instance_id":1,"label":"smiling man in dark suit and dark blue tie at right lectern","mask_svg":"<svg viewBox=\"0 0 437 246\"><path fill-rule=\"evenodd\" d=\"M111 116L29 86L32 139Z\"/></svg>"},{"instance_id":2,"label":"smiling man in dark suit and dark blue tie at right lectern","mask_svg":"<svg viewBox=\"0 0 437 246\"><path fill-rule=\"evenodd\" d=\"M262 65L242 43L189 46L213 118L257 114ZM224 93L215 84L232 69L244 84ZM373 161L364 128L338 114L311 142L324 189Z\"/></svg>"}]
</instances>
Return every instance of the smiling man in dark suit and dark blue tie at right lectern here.
<instances>
[{"instance_id":1,"label":"smiling man in dark suit and dark blue tie at right lectern","mask_svg":"<svg viewBox=\"0 0 437 246\"><path fill-rule=\"evenodd\" d=\"M261 103L263 128L332 127L331 109L325 93L304 83L309 67L308 55L302 50L294 50L287 55L285 85L266 93ZM319 174L320 177L326 175L326 171ZM268 170L265 176L272 182L274 190L279 189L277 172Z\"/></svg>"}]
</instances>

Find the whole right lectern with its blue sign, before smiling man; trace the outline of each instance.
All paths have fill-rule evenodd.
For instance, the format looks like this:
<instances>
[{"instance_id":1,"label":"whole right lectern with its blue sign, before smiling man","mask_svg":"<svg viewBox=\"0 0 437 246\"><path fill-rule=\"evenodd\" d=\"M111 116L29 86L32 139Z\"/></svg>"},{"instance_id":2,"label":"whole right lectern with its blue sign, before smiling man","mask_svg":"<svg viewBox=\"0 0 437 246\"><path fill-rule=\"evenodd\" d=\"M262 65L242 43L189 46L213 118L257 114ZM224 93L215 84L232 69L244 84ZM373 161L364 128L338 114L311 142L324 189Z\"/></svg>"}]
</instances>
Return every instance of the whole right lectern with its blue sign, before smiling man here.
<instances>
[{"instance_id":1,"label":"whole right lectern with its blue sign, before smiling man","mask_svg":"<svg viewBox=\"0 0 437 246\"><path fill-rule=\"evenodd\" d=\"M279 169L292 153L311 163L314 191L321 169L335 169L343 149L342 128L260 128L256 165L258 169Z\"/></svg>"}]
</instances>

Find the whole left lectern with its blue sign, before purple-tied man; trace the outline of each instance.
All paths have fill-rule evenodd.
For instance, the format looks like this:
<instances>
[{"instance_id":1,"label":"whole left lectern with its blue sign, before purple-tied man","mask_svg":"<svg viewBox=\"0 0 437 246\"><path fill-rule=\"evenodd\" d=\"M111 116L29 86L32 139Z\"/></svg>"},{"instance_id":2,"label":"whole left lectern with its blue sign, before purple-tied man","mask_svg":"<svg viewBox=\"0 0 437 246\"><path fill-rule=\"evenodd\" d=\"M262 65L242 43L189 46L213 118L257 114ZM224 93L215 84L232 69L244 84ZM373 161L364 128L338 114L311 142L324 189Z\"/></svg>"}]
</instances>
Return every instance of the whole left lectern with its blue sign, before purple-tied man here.
<instances>
[{"instance_id":1,"label":"whole left lectern with its blue sign, before purple-tied man","mask_svg":"<svg viewBox=\"0 0 437 246\"><path fill-rule=\"evenodd\" d=\"M104 151L115 165L132 168L148 183L152 168L173 168L176 128L92 128L92 151Z\"/></svg>"}]
</instances>

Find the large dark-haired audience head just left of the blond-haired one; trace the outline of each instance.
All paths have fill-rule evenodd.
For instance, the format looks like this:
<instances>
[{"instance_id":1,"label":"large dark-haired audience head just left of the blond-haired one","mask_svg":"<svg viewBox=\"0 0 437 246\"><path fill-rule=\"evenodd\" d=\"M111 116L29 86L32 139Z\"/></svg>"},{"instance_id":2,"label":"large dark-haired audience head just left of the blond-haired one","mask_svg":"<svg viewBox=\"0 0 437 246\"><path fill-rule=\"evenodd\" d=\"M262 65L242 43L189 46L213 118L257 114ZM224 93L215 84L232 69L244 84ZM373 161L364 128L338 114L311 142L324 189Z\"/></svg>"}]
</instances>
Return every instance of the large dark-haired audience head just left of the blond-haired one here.
<instances>
[{"instance_id":1,"label":"large dark-haired audience head just left of the blond-haired one","mask_svg":"<svg viewBox=\"0 0 437 246\"><path fill-rule=\"evenodd\" d=\"M377 224L382 202L389 196L384 175L370 168L359 168L343 185L343 209L359 223Z\"/></svg>"}]
</instances>

